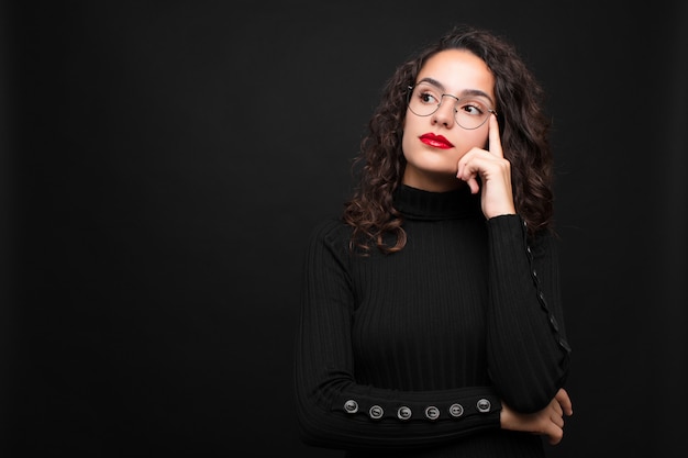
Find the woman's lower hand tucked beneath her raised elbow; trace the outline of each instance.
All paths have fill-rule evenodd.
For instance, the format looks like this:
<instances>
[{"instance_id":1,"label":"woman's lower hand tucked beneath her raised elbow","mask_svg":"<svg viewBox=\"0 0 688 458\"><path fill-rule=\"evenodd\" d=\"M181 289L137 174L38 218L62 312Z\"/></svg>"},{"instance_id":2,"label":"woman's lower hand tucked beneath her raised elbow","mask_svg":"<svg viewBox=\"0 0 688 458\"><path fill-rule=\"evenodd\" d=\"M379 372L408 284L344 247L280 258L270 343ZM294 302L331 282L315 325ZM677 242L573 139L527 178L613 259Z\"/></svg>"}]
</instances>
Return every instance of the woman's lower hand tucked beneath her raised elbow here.
<instances>
[{"instance_id":1,"label":"woman's lower hand tucked beneath her raised elbow","mask_svg":"<svg viewBox=\"0 0 688 458\"><path fill-rule=\"evenodd\" d=\"M564 437L564 415L573 414L570 398L562 388L545 409L535 413L514 412L502 402L499 421L502 429L542 434L550 444L557 445Z\"/></svg>"}]
</instances>

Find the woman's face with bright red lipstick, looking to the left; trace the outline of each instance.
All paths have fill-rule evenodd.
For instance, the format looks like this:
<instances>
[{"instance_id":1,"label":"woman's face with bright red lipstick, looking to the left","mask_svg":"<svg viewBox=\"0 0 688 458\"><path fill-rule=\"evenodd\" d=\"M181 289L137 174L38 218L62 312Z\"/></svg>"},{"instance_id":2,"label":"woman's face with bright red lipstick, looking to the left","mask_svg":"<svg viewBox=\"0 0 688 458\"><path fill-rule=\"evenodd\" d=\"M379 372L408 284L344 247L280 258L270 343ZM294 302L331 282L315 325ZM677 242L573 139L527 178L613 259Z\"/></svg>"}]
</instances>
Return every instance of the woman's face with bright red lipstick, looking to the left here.
<instances>
[{"instance_id":1,"label":"woman's face with bright red lipstick, looking to the left","mask_svg":"<svg viewBox=\"0 0 688 458\"><path fill-rule=\"evenodd\" d=\"M417 88L419 85L429 88L428 96L419 100L429 101L430 107L434 100L430 94L434 94L442 103L433 114L425 116L407 108L401 143L407 166L402 181L426 191L456 189L464 183L456 178L458 160L473 147L485 148L489 131L489 122L473 130L458 125L455 109L469 112L475 109L462 107L457 99L470 94L495 109L495 77L475 54L446 49L428 59L418 75Z\"/></svg>"}]
</instances>

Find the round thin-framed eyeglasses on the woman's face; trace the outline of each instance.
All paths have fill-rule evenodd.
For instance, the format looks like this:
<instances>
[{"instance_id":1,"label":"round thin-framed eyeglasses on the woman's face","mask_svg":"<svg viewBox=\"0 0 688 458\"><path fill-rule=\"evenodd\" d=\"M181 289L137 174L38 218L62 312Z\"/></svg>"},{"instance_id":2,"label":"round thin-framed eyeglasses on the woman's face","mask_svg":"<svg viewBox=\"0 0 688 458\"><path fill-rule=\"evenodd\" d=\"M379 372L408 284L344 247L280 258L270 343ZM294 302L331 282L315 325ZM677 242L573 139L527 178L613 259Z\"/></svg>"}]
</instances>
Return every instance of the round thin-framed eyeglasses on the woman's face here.
<instances>
[{"instance_id":1,"label":"round thin-framed eyeglasses on the woman's face","mask_svg":"<svg viewBox=\"0 0 688 458\"><path fill-rule=\"evenodd\" d=\"M407 104L409 110L418 116L430 116L440 109L444 97L451 97L454 102L454 119L456 124L466 130L478 129L490 116L497 114L490 108L490 101L478 94L468 94L458 98L451 93L442 93L440 88L428 82L420 82L415 87L409 86Z\"/></svg>"}]
</instances>

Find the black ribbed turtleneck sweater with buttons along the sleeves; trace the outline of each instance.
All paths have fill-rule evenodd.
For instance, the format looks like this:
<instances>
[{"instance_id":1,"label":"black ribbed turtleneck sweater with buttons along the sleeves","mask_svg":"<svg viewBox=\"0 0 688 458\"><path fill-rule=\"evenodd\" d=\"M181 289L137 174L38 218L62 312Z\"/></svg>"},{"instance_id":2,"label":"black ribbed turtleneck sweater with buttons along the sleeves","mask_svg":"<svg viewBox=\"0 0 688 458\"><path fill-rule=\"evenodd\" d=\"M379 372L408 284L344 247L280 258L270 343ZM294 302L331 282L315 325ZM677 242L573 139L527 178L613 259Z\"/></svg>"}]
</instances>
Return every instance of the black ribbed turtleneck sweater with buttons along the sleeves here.
<instances>
[{"instance_id":1,"label":"black ribbed turtleneck sweater with buttons along the sleeves","mask_svg":"<svg viewBox=\"0 0 688 458\"><path fill-rule=\"evenodd\" d=\"M341 220L306 255L296 349L302 439L347 456L542 457L500 429L501 403L543 409L566 379L554 238L485 220L465 187L401 187L406 247L365 257Z\"/></svg>"}]
</instances>

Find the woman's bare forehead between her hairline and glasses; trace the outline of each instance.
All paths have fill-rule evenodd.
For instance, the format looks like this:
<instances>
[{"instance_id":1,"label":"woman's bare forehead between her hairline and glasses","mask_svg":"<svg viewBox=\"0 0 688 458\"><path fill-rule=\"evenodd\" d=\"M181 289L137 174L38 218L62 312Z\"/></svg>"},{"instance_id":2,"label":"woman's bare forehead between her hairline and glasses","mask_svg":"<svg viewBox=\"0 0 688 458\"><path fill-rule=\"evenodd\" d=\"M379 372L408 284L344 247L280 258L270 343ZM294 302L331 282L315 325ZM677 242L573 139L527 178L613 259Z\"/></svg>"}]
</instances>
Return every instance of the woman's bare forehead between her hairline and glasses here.
<instances>
[{"instance_id":1,"label":"woman's bare forehead between her hairline and glasses","mask_svg":"<svg viewBox=\"0 0 688 458\"><path fill-rule=\"evenodd\" d=\"M465 49L445 49L429 58L417 81L431 78L448 93L480 90L495 98L495 76L487 64Z\"/></svg>"}]
</instances>

